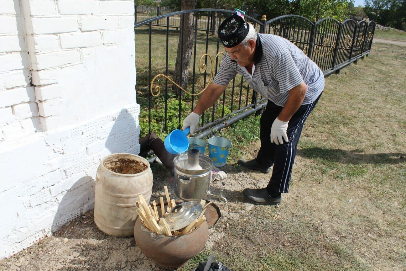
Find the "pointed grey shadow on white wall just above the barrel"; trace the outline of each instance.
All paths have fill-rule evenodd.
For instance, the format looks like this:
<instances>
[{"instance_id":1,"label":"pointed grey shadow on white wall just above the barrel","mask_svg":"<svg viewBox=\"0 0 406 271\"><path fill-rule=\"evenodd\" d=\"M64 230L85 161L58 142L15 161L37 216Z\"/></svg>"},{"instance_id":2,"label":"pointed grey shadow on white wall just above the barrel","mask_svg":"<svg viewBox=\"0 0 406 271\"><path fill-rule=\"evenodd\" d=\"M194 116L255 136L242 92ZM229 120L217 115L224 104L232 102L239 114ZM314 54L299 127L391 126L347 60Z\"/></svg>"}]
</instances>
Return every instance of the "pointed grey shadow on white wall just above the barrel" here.
<instances>
[{"instance_id":1,"label":"pointed grey shadow on white wall just above the barrel","mask_svg":"<svg viewBox=\"0 0 406 271\"><path fill-rule=\"evenodd\" d=\"M138 121L134 119L128 109L123 108L114 120L105 147L111 153L127 152L138 154L139 131Z\"/></svg>"}]
</instances>

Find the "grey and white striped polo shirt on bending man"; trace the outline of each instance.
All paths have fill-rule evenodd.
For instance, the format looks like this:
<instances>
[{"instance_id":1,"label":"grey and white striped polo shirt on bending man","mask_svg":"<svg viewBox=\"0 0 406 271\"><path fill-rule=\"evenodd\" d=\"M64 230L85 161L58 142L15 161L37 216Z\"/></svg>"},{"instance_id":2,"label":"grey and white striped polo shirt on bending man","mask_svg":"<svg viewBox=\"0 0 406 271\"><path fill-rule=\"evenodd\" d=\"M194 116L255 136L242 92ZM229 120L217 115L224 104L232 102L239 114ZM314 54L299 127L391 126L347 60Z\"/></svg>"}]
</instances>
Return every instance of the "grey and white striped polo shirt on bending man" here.
<instances>
[{"instance_id":1,"label":"grey and white striped polo shirt on bending man","mask_svg":"<svg viewBox=\"0 0 406 271\"><path fill-rule=\"evenodd\" d=\"M213 82L228 85L236 74L241 74L262 97L283 106L289 90L304 81L307 92L302 104L313 102L324 89L324 75L317 64L283 37L257 35L252 74L248 74L226 53Z\"/></svg>"}]
</instances>

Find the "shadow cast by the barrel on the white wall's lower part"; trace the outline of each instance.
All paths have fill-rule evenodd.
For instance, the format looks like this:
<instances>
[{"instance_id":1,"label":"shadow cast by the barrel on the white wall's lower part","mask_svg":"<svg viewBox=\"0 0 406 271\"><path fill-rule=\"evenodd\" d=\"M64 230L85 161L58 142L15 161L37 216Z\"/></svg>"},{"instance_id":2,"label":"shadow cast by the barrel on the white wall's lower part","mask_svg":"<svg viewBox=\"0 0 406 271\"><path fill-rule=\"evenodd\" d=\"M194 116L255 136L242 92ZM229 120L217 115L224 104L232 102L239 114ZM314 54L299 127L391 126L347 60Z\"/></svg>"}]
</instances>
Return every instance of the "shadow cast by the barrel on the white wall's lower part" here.
<instances>
[{"instance_id":1,"label":"shadow cast by the barrel on the white wall's lower part","mask_svg":"<svg viewBox=\"0 0 406 271\"><path fill-rule=\"evenodd\" d=\"M58 201L58 209L52 223L52 232L58 230L60 226L79 217L85 212L94 208L95 182L91 176L79 178L71 188L66 191Z\"/></svg>"}]
</instances>

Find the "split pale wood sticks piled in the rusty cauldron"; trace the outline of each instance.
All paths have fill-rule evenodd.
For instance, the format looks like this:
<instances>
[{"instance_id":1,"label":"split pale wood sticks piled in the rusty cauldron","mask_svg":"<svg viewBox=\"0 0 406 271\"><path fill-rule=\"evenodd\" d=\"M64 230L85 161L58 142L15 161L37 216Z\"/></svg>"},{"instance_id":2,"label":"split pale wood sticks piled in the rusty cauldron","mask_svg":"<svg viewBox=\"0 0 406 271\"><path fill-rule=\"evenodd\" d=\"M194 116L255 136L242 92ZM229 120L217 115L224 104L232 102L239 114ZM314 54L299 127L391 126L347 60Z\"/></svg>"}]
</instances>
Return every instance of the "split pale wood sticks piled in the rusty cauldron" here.
<instances>
[{"instance_id":1,"label":"split pale wood sticks piled in the rusty cauldron","mask_svg":"<svg viewBox=\"0 0 406 271\"><path fill-rule=\"evenodd\" d=\"M171 212L171 209L176 206L175 199L171 199L169 197L169 192L168 192L168 187L164 186L165 190L165 197L166 197L166 202L168 203L168 206L166 208L166 212ZM147 204L145 201L145 198L143 195L138 196L138 201L137 201L137 213L138 216L140 217L141 223L143 223L144 227L151 230L152 232L158 233L158 234L164 234L168 236L173 236L173 235L181 235L181 234L186 234L188 232L191 232L192 230L196 229L199 227L204 221L206 221L206 217L203 215L207 206L212 204L212 202L209 202L206 204L206 201L202 199L200 201L200 204L202 205L203 211L197 217L197 219L194 219L192 223L190 223L188 226L186 226L183 229L176 230L171 232L168 223L165 221L164 218L162 218L165 215L165 206L164 206L164 198L160 197L160 206L161 206L161 217L158 215L158 208L156 205L155 200L152 202L152 206ZM162 220L162 227L159 225L160 221Z\"/></svg>"}]
</instances>

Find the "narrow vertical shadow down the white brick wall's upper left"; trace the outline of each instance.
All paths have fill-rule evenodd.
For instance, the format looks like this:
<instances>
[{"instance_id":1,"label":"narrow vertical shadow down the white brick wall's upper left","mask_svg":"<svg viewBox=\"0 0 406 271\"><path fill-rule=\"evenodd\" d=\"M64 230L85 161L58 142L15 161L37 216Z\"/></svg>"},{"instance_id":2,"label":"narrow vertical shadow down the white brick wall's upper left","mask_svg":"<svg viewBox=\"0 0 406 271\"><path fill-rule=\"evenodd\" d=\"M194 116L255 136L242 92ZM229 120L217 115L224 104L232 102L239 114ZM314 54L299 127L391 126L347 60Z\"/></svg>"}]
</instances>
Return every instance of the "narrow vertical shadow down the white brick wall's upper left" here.
<instances>
[{"instance_id":1,"label":"narrow vertical shadow down the white brick wall's upper left","mask_svg":"<svg viewBox=\"0 0 406 271\"><path fill-rule=\"evenodd\" d=\"M31 83L31 73L30 73L30 56L28 54L28 48L26 47L26 43L24 41L25 29L23 24L23 11L19 6L19 0L13 0L14 10L17 14L15 16L15 24L17 29L17 37L18 37L18 44L19 44L19 54L21 57L21 67L18 67L17 70L13 71L13 74L18 74L18 80L12 80L7 86L8 88L15 88L15 87L25 87L27 92L27 97L29 102L26 102L29 106L30 116L26 115L25 117L31 120L32 127L24 127L24 130L30 130L31 132L41 132L43 127L39 121L39 109L38 103L36 102L37 98L35 95L35 88L32 86ZM12 26L10 26L12 27ZM32 37L26 37L28 39L32 39ZM33 42L33 41L32 41ZM11 49L16 51L15 49ZM34 53L34 52L32 52ZM11 75L11 74L10 74ZM6 74L7 76L7 74ZM24 77L24 80L21 79ZM39 100L39 99L38 99Z\"/></svg>"}]
</instances>

